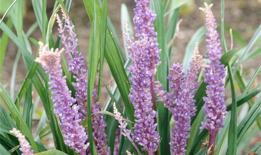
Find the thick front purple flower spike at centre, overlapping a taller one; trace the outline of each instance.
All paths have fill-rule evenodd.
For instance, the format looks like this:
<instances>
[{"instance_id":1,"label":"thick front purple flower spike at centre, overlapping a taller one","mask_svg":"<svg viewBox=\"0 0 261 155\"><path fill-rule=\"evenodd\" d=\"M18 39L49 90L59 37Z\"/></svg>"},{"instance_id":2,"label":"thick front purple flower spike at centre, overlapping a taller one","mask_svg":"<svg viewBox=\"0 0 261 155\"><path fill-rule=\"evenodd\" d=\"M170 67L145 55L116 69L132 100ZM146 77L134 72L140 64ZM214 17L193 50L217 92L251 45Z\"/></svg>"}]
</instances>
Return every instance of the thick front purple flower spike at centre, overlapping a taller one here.
<instances>
[{"instance_id":1,"label":"thick front purple flower spike at centre, overlapping a taller one","mask_svg":"<svg viewBox=\"0 0 261 155\"><path fill-rule=\"evenodd\" d=\"M135 109L134 116L137 118L132 138L143 146L142 150L153 154L158 149L159 134L156 131L157 123L154 124L157 112L152 109L152 97L149 92L150 78L153 73L149 69L149 42L147 40L148 37L144 36L142 40L132 43L129 48L131 53L129 59L132 61L128 68L131 70L132 82L129 98Z\"/></svg>"}]
</instances>

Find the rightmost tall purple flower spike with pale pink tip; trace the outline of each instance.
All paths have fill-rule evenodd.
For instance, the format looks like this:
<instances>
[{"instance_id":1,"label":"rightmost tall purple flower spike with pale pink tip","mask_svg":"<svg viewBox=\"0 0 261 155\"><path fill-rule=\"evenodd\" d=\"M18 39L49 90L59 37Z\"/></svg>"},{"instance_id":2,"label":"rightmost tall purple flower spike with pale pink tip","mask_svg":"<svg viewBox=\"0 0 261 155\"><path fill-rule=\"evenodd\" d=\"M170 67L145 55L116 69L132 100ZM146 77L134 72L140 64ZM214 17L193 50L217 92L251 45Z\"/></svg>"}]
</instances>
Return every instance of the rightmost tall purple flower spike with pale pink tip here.
<instances>
[{"instance_id":1,"label":"rightmost tall purple flower spike with pale pink tip","mask_svg":"<svg viewBox=\"0 0 261 155\"><path fill-rule=\"evenodd\" d=\"M222 48L220 47L220 40L218 39L218 33L216 30L216 20L211 11L213 4L204 4L205 8L199 9L204 11L206 14L206 26L208 30L206 36L210 39L206 39L206 42L208 42L208 55L205 57L210 60L210 63L207 64L204 71L207 75L204 82L209 85L206 87L206 94L208 96L203 98L205 105L202 107L207 121L205 123L202 122L203 126L200 127L200 129L206 128L209 132L208 148L211 153L217 132L224 127L224 118L227 113L223 94L225 91L223 86L226 71L224 65L221 64L220 61Z\"/></svg>"}]
</instances>

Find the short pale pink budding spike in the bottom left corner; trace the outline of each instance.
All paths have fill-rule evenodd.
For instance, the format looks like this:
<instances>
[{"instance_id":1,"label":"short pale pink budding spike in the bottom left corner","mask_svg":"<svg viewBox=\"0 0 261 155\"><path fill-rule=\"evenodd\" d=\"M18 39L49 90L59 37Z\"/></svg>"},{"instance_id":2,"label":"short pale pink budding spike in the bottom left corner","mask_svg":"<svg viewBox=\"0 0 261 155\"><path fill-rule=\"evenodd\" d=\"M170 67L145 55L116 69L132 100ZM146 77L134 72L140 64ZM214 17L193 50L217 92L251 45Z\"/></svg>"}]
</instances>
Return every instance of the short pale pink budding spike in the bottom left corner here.
<instances>
[{"instance_id":1,"label":"short pale pink budding spike in the bottom left corner","mask_svg":"<svg viewBox=\"0 0 261 155\"><path fill-rule=\"evenodd\" d=\"M14 134L18 138L19 144L20 144L19 150L22 152L21 155L33 155L34 154L34 150L30 150L31 145L25 139L25 135L21 134L20 131L17 130L16 128L13 128L13 130L10 130L10 133Z\"/></svg>"}]
</instances>

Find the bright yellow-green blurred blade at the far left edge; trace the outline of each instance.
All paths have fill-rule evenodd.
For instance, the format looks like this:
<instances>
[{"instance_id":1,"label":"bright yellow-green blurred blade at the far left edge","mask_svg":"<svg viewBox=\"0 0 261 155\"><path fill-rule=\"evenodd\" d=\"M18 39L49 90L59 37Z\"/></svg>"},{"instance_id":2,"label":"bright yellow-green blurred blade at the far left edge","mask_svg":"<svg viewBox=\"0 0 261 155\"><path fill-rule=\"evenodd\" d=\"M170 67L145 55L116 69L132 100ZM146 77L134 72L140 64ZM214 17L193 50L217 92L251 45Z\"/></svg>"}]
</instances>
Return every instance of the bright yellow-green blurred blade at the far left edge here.
<instances>
[{"instance_id":1,"label":"bright yellow-green blurred blade at the far left edge","mask_svg":"<svg viewBox=\"0 0 261 155\"><path fill-rule=\"evenodd\" d=\"M12 29L13 22L12 22L11 18L8 18L6 25L7 25L8 29ZM0 44L1 44L1 46L0 46L0 80L1 80L2 66L4 63L4 57L5 57L5 52L7 49L8 40L9 40L8 35L6 33L2 33L2 37L0 39Z\"/></svg>"}]
</instances>

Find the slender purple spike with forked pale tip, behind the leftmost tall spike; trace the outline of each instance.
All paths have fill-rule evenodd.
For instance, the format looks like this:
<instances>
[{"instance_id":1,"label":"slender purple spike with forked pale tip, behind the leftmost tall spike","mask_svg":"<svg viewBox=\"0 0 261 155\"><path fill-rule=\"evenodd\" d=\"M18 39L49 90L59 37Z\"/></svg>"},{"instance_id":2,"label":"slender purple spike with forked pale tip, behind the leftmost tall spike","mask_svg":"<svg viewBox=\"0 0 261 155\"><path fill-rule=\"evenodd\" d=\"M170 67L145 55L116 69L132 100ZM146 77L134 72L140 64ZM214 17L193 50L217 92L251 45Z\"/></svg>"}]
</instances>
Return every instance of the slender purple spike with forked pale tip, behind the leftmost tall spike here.
<instances>
[{"instance_id":1,"label":"slender purple spike with forked pale tip, behind the leftmost tall spike","mask_svg":"<svg viewBox=\"0 0 261 155\"><path fill-rule=\"evenodd\" d=\"M82 121L87 116L87 70L84 68L84 57L81 56L82 53L80 52L78 55L77 47L78 39L76 38L76 34L73 32L74 25L71 25L70 23L70 17L67 16L66 11L61 6L62 9L62 18L65 20L65 25L63 27L62 20L58 15L56 15L57 23L59 25L59 37L63 39L62 44L65 46L66 50L65 52L69 55L68 59L69 62L69 72L74 73L77 76L73 76L74 79L76 79L76 82L72 82L72 85L75 88L75 97L79 104L79 117ZM64 34L64 31L67 29L67 32L69 35ZM74 55L74 56L72 56Z\"/></svg>"}]
</instances>

